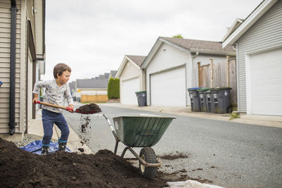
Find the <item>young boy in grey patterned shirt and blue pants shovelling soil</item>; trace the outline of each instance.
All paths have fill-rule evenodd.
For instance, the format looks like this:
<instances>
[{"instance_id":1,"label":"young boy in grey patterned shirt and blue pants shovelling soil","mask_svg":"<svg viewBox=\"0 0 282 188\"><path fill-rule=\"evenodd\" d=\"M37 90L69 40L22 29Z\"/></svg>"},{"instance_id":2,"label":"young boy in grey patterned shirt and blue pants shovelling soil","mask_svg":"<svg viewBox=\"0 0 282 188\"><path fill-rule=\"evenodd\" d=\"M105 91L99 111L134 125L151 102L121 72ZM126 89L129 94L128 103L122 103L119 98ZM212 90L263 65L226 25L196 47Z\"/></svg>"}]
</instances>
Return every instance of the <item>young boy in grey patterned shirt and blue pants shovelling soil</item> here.
<instances>
[{"instance_id":1,"label":"young boy in grey patterned shirt and blue pants shovelling soil","mask_svg":"<svg viewBox=\"0 0 282 188\"><path fill-rule=\"evenodd\" d=\"M35 83L33 89L33 103L38 100L40 88L45 88L44 102L63 106L64 99L68 101L68 107L73 108L73 97L71 96L70 87L66 84L71 76L71 68L65 63L59 63L53 70L55 80L39 81ZM61 137L58 139L59 151L66 151L66 143L68 142L68 123L66 123L61 109L42 105L42 123L44 136L42 139L42 155L49 154L49 144L53 135L54 123L61 130Z\"/></svg>"}]
</instances>

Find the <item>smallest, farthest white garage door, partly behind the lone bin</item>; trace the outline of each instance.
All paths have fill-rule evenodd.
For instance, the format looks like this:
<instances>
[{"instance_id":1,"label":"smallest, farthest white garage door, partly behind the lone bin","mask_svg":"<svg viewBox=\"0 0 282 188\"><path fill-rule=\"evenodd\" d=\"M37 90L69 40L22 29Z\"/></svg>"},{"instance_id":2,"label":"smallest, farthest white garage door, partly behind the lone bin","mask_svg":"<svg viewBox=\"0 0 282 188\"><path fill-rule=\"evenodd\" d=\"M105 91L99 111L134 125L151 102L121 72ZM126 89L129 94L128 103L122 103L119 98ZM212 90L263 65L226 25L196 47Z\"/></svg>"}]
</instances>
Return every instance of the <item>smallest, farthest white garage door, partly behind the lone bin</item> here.
<instances>
[{"instance_id":1,"label":"smallest, farthest white garage door, partly behind the lone bin","mask_svg":"<svg viewBox=\"0 0 282 188\"><path fill-rule=\"evenodd\" d=\"M137 104L137 97L135 92L140 91L139 77L121 81L121 104Z\"/></svg>"}]
</instances>

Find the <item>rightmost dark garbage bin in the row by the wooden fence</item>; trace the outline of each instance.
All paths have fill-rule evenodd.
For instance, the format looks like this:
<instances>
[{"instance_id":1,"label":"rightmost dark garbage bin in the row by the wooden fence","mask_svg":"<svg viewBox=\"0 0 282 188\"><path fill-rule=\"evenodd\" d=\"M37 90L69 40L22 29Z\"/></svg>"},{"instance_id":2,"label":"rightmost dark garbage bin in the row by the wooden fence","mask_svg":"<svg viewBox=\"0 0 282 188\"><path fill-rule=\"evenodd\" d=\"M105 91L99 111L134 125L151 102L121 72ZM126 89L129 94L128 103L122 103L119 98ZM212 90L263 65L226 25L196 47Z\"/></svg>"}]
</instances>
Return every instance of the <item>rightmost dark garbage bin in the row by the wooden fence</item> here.
<instances>
[{"instance_id":1,"label":"rightmost dark garbage bin in the row by the wooden fence","mask_svg":"<svg viewBox=\"0 0 282 188\"><path fill-rule=\"evenodd\" d=\"M211 89L214 113L228 113L228 108L231 106L231 89L231 87Z\"/></svg>"}]
</instances>

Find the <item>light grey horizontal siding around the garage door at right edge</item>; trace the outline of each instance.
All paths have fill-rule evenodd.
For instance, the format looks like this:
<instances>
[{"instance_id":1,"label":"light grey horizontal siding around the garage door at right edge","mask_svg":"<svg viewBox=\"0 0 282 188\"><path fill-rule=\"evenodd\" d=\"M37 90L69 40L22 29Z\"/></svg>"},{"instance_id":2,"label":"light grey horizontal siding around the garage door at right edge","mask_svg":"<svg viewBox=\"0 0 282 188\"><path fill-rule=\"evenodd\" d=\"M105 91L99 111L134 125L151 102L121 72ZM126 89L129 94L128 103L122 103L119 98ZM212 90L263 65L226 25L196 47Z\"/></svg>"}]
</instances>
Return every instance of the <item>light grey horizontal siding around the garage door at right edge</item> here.
<instances>
[{"instance_id":1,"label":"light grey horizontal siding around the garage door at right edge","mask_svg":"<svg viewBox=\"0 0 282 188\"><path fill-rule=\"evenodd\" d=\"M237 42L238 110L247 112L245 53L282 44L282 1L277 1Z\"/></svg>"}]
</instances>

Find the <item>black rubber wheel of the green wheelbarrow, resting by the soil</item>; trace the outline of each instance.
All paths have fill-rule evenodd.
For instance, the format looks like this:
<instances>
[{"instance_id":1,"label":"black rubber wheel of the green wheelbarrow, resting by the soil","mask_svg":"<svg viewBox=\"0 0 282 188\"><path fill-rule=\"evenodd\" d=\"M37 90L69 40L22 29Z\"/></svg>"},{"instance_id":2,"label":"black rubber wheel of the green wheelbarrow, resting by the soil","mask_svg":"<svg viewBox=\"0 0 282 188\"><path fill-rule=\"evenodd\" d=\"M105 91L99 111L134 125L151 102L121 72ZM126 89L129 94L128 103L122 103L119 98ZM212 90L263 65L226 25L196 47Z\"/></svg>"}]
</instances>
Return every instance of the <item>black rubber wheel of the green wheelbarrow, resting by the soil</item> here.
<instances>
[{"instance_id":1,"label":"black rubber wheel of the green wheelbarrow, resting by the soil","mask_svg":"<svg viewBox=\"0 0 282 188\"><path fill-rule=\"evenodd\" d=\"M140 157L147 163L157 163L156 153L154 153L154 149L152 149L151 147L142 148L140 151ZM141 174L147 177L148 179L154 178L157 174L156 167L145 167L145 165L143 165L140 161L139 168Z\"/></svg>"}]
</instances>

